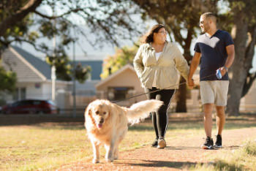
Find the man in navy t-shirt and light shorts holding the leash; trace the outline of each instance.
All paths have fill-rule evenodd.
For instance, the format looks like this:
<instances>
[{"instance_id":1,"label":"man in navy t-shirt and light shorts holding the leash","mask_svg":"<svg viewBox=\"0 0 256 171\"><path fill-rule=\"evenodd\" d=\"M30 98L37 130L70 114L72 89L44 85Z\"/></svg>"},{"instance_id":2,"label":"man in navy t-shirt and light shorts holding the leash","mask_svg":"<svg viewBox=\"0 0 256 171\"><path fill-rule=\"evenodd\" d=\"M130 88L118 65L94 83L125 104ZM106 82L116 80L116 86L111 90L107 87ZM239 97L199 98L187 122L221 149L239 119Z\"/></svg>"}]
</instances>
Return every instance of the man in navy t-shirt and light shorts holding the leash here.
<instances>
[{"instance_id":1,"label":"man in navy t-shirt and light shorts holding the leash","mask_svg":"<svg viewBox=\"0 0 256 171\"><path fill-rule=\"evenodd\" d=\"M192 76L200 63L200 94L204 111L206 142L203 149L222 147L222 130L225 124L225 106L227 104L228 75L227 70L233 64L235 50L233 39L227 31L217 29L217 17L211 12L200 16L200 35L195 45L195 54L189 69L188 85L194 86ZM220 70L222 78L216 72ZM211 138L212 111L214 104L217 111L217 140Z\"/></svg>"}]
</instances>

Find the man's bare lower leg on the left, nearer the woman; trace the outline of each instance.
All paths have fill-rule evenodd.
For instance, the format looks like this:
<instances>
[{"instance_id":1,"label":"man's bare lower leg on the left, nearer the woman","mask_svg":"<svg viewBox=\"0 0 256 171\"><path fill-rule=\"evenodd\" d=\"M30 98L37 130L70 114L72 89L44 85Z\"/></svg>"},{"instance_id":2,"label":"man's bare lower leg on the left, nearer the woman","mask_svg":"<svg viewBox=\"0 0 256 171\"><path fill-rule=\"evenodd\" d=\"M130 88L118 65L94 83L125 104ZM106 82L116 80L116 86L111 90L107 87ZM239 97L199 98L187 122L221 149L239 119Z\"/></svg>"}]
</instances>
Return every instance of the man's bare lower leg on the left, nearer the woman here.
<instances>
[{"instance_id":1,"label":"man's bare lower leg on the left, nearer the woman","mask_svg":"<svg viewBox=\"0 0 256 171\"><path fill-rule=\"evenodd\" d=\"M214 104L203 104L203 112L204 112L204 126L206 137L211 137L211 129L212 129L212 110Z\"/></svg>"}]
</instances>

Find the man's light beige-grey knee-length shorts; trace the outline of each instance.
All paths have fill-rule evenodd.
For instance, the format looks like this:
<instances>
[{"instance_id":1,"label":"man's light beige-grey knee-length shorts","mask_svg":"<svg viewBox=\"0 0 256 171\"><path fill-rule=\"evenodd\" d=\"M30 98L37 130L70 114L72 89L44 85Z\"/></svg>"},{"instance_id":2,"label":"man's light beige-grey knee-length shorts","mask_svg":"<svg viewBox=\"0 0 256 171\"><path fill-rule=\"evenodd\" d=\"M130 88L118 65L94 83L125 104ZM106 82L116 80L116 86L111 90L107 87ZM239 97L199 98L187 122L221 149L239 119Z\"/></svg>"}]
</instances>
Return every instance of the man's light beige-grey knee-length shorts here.
<instances>
[{"instance_id":1,"label":"man's light beige-grey knee-length shorts","mask_svg":"<svg viewBox=\"0 0 256 171\"><path fill-rule=\"evenodd\" d=\"M200 81L202 104L227 105L228 80Z\"/></svg>"}]
</instances>

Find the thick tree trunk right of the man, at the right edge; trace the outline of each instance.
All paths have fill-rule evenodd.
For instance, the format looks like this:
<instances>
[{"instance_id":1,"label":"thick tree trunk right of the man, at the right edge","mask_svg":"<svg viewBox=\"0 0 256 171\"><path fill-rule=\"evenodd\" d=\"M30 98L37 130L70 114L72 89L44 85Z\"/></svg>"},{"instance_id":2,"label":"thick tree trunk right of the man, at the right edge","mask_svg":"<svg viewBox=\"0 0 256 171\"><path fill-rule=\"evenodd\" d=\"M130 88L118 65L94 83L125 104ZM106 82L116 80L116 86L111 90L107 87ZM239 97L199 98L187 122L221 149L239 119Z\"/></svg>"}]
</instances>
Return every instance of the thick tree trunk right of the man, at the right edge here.
<instances>
[{"instance_id":1,"label":"thick tree trunk right of the man, at the right edge","mask_svg":"<svg viewBox=\"0 0 256 171\"><path fill-rule=\"evenodd\" d=\"M238 115L240 99L248 92L256 77L249 73L256 45L256 1L229 0L229 3L236 57L229 71L227 114Z\"/></svg>"}]
</instances>

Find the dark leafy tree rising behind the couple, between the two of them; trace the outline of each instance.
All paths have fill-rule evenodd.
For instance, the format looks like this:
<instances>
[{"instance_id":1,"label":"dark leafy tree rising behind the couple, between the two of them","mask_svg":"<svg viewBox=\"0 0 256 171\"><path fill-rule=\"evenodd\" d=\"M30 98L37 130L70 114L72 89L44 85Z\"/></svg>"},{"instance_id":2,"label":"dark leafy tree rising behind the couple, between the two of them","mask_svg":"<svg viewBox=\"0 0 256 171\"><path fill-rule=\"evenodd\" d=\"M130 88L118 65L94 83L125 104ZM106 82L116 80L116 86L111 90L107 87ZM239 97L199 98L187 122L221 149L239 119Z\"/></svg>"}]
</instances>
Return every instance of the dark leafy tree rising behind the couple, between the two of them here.
<instances>
[{"instance_id":1,"label":"dark leafy tree rising behind the couple, between the two of them","mask_svg":"<svg viewBox=\"0 0 256 171\"><path fill-rule=\"evenodd\" d=\"M216 0L192 1L162 1L162 0L132 0L142 9L143 19L152 18L157 23L165 24L167 31L172 35L170 39L178 42L184 49L184 57L190 61L190 47L192 39L197 37L199 18L203 12L217 12ZM180 83L185 80L181 77ZM187 112L187 86L182 84L178 88L176 112Z\"/></svg>"}]
</instances>

